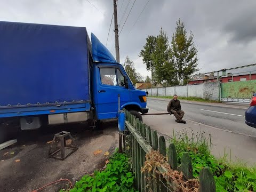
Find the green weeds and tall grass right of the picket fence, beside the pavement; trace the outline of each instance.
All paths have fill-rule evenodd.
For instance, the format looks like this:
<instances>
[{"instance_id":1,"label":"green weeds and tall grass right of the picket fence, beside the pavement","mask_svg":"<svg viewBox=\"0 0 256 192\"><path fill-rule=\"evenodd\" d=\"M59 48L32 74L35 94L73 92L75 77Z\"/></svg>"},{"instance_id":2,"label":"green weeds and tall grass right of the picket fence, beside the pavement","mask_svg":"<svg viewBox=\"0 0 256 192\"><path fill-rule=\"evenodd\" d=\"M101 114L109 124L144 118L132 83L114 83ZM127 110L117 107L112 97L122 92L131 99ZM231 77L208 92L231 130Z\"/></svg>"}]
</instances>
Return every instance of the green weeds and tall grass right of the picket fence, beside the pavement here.
<instances>
[{"instance_id":1,"label":"green weeds and tall grass right of the picket fence, beside the pavement","mask_svg":"<svg viewBox=\"0 0 256 192\"><path fill-rule=\"evenodd\" d=\"M211 138L204 131L194 133L193 130L188 132L183 129L181 132L173 132L171 142L177 150L178 165L182 155L188 152L192 159L194 177L199 177L203 167L210 167L216 191L256 191L256 168L246 167L246 164L239 161L234 164L226 153L221 159L215 158L211 155Z\"/></svg>"}]
</instances>

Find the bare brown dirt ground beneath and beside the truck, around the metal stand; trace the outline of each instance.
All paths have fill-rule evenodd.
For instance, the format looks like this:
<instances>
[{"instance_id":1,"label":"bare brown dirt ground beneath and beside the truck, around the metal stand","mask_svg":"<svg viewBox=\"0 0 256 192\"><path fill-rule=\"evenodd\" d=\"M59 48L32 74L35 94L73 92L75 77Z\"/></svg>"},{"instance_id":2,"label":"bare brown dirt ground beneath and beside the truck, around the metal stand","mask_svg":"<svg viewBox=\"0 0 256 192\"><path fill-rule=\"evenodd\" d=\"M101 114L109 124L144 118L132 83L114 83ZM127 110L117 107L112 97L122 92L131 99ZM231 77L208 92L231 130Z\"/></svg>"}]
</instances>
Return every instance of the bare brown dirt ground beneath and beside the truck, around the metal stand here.
<instances>
[{"instance_id":1,"label":"bare brown dirt ground beneath and beside the truck, around the metal stand","mask_svg":"<svg viewBox=\"0 0 256 192\"><path fill-rule=\"evenodd\" d=\"M104 153L111 154L118 147L117 121L103 123L102 130L87 129L85 124L71 124L20 133L18 143L0 150L0 191L33 191L59 179L74 184L84 174L105 166L108 157ZM78 146L64 161L48 157L51 144L47 142L60 131L71 132ZM102 152L94 155L96 150ZM40 191L59 191L68 188L67 184L61 181Z\"/></svg>"}]
</instances>

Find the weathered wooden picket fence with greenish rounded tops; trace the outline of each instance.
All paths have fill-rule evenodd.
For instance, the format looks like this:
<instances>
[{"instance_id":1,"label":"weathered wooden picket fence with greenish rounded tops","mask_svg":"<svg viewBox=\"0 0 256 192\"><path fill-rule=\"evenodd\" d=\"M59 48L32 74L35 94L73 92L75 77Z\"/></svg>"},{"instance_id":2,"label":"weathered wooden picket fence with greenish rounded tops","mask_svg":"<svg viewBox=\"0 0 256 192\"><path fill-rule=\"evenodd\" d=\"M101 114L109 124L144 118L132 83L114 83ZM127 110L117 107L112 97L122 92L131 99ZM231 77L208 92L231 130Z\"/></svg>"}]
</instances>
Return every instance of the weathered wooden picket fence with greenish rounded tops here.
<instances>
[{"instance_id":1,"label":"weathered wooden picket fence with greenish rounded tops","mask_svg":"<svg viewBox=\"0 0 256 192\"><path fill-rule=\"evenodd\" d=\"M129 111L125 111L125 115L126 141L124 141L124 149L125 153L131 159L137 189L139 191L154 192L174 191L175 183L170 180L170 178L164 176L164 173L168 171L165 166L157 166L158 172L162 173L160 175L156 175L156 173L153 172L145 175L145 172L141 172L141 167L144 166L146 161L146 154L149 154L152 150L158 150L159 154L166 156L166 143L164 137L161 136L158 138L155 130L151 130L149 126L143 124L138 118L131 115ZM172 170L178 169L177 152L173 143L169 146L166 159ZM193 178L193 167L188 153L185 153L182 156L179 171L182 171L186 180ZM152 177L155 175L156 180L154 182L147 180L146 177L148 177L148 174L153 174L151 175ZM150 185L148 182L150 182ZM199 190L201 192L215 192L215 181L209 167L203 168L200 172Z\"/></svg>"}]
</instances>

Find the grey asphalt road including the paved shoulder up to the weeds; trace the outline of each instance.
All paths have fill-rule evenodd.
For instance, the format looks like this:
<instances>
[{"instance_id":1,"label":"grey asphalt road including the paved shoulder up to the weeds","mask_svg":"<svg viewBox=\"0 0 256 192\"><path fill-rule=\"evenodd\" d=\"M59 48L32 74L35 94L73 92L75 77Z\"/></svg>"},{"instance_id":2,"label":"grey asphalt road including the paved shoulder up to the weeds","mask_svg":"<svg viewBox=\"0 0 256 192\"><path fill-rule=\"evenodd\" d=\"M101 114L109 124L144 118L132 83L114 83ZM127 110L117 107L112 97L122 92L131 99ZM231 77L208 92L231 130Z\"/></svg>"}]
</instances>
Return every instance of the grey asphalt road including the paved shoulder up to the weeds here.
<instances>
[{"instance_id":1,"label":"grey asphalt road including the paved shoulder up to the weeds","mask_svg":"<svg viewBox=\"0 0 256 192\"><path fill-rule=\"evenodd\" d=\"M166 113L168 102L149 98L149 114ZM239 159L249 165L256 164L256 129L244 123L247 106L181 101L181 108L185 111L186 124L176 123L173 115L143 116L143 122L166 138L185 131L190 136L203 132L205 138L211 137L212 154L217 158L226 154L230 161Z\"/></svg>"}]
</instances>

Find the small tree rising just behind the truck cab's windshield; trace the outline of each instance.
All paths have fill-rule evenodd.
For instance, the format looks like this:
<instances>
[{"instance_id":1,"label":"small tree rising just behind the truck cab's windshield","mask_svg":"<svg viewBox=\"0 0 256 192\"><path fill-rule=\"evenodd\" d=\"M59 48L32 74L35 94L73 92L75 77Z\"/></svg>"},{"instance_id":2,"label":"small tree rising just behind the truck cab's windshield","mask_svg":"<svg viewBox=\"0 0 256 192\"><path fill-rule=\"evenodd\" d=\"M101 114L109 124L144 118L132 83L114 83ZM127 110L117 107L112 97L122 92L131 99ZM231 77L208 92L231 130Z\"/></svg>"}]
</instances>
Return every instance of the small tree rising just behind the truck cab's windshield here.
<instances>
[{"instance_id":1,"label":"small tree rising just behind the truck cab's windshield","mask_svg":"<svg viewBox=\"0 0 256 192\"><path fill-rule=\"evenodd\" d=\"M125 58L123 67L124 67L127 75L129 75L129 77L134 85L136 84L136 82L142 81L143 77L139 73L136 72L134 63L128 56L126 56L126 58Z\"/></svg>"}]
</instances>

